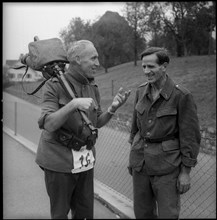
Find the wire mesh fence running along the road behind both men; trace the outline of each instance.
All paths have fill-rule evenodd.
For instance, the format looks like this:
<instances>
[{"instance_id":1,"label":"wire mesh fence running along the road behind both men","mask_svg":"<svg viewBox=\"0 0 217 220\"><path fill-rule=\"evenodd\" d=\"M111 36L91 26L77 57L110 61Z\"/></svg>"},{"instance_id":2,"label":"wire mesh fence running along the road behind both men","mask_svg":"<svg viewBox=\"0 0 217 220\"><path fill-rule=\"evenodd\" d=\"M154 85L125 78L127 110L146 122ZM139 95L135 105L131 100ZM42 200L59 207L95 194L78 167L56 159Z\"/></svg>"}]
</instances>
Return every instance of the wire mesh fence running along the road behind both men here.
<instances>
[{"instance_id":1,"label":"wire mesh fence running along the road behind both men","mask_svg":"<svg viewBox=\"0 0 217 220\"><path fill-rule=\"evenodd\" d=\"M37 125L39 115L39 107L3 100L3 125L36 144L41 133ZM128 124L115 119L99 129L95 179L132 201L132 177L127 169L129 131ZM180 218L216 218L216 134L201 130L201 135L198 164L191 172L191 189L181 196Z\"/></svg>"}]
</instances>

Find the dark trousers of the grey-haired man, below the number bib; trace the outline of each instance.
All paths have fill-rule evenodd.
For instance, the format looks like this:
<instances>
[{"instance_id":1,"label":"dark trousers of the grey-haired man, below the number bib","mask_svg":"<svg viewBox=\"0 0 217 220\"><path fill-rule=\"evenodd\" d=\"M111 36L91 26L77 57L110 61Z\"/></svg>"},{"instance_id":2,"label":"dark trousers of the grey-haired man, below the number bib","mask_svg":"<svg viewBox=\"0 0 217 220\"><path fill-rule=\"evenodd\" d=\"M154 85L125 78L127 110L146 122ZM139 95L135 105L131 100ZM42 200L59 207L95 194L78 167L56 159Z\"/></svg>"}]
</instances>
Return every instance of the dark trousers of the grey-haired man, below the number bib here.
<instances>
[{"instance_id":1,"label":"dark trousers of the grey-haired man, below the number bib","mask_svg":"<svg viewBox=\"0 0 217 220\"><path fill-rule=\"evenodd\" d=\"M52 219L93 219L93 169L81 173L59 173L44 169Z\"/></svg>"}]
</instances>

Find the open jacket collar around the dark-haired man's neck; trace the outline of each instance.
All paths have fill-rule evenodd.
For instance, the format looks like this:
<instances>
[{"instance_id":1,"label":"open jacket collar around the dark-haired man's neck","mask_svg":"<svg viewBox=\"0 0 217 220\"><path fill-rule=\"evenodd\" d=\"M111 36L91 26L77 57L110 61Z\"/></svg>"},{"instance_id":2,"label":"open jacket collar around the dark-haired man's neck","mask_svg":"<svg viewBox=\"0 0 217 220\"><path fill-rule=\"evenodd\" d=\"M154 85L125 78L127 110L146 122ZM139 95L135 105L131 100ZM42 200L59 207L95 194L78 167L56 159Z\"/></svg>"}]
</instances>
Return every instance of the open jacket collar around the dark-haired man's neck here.
<instances>
[{"instance_id":1,"label":"open jacket collar around the dark-haired man's neck","mask_svg":"<svg viewBox=\"0 0 217 220\"><path fill-rule=\"evenodd\" d=\"M167 75L166 82L160 92L160 94L164 97L164 99L168 100L172 94L173 88L175 86L175 83L173 80ZM144 95L148 95L151 93L151 85L150 83L147 84Z\"/></svg>"}]
</instances>

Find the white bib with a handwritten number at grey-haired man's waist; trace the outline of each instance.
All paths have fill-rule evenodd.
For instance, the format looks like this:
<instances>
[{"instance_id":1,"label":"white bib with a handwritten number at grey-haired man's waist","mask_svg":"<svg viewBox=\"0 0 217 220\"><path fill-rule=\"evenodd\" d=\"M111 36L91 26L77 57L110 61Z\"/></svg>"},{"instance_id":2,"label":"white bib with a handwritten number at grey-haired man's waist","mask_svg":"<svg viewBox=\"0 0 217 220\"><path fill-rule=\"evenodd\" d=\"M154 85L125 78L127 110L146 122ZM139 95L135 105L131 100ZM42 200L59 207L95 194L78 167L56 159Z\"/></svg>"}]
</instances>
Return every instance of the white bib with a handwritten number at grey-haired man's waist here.
<instances>
[{"instance_id":1,"label":"white bib with a handwritten number at grey-haired man's waist","mask_svg":"<svg viewBox=\"0 0 217 220\"><path fill-rule=\"evenodd\" d=\"M72 155L74 167L71 170L72 173L80 173L93 168L95 158L92 150L87 150L86 147L82 147L80 151L72 149Z\"/></svg>"}]
</instances>

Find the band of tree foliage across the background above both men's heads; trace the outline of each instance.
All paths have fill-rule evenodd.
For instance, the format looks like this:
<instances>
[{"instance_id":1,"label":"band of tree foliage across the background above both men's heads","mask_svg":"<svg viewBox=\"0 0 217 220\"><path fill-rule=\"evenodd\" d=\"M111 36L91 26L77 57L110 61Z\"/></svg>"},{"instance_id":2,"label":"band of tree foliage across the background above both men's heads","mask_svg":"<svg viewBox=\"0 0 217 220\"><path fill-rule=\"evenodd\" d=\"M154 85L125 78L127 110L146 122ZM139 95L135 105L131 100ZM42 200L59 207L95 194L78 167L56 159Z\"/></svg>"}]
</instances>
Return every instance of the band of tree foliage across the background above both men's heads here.
<instances>
[{"instance_id":1,"label":"band of tree foliage across the background above both men's heads","mask_svg":"<svg viewBox=\"0 0 217 220\"><path fill-rule=\"evenodd\" d=\"M136 66L146 46L165 47L175 56L215 53L215 1L126 2L124 10L124 17L107 11L93 24L73 18L60 32L66 48L75 40L91 40L105 72L133 60Z\"/></svg>"}]
</instances>

